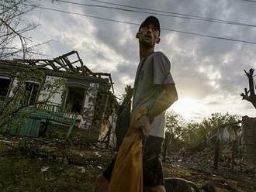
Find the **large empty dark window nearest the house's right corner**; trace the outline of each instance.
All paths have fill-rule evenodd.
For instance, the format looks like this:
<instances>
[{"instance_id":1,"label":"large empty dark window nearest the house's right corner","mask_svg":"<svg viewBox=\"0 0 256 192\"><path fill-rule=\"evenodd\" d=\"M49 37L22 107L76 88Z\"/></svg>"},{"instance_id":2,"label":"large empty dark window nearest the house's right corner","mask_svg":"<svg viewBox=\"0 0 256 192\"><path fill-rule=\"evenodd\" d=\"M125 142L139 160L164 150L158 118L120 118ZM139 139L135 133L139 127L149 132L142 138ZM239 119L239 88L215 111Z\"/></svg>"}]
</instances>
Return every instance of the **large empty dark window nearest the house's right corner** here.
<instances>
[{"instance_id":1,"label":"large empty dark window nearest the house's right corner","mask_svg":"<svg viewBox=\"0 0 256 192\"><path fill-rule=\"evenodd\" d=\"M73 113L81 113L84 104L85 89L68 87L66 109Z\"/></svg>"}]
</instances>

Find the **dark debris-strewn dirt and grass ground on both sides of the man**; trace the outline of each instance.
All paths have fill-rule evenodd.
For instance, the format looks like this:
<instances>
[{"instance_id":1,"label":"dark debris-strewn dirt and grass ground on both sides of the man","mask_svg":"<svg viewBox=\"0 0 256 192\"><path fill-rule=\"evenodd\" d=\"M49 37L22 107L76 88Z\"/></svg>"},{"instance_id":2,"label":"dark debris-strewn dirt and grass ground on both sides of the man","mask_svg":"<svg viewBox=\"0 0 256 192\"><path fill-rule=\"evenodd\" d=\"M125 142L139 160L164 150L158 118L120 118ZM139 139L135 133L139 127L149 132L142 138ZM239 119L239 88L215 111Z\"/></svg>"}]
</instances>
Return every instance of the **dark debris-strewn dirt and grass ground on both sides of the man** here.
<instances>
[{"instance_id":1,"label":"dark debris-strewn dirt and grass ground on both sides of the man","mask_svg":"<svg viewBox=\"0 0 256 192\"><path fill-rule=\"evenodd\" d=\"M113 155L104 144L0 136L0 191L91 192L95 176ZM213 173L206 165L169 157L164 173L166 177L192 180L199 187L209 183L216 191L256 191L255 173Z\"/></svg>"}]
</instances>

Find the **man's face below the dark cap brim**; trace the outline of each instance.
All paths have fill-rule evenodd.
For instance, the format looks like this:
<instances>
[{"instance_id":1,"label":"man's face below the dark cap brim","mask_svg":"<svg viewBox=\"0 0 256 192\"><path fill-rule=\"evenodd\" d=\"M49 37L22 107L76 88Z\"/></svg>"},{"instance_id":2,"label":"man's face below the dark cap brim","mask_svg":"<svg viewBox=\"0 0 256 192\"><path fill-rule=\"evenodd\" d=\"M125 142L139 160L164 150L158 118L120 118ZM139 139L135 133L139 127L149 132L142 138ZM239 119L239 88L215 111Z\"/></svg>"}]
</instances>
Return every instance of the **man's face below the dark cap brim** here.
<instances>
[{"instance_id":1,"label":"man's face below the dark cap brim","mask_svg":"<svg viewBox=\"0 0 256 192\"><path fill-rule=\"evenodd\" d=\"M137 38L142 45L149 48L154 46L156 43L159 43L160 41L159 31L152 24L141 27L140 31L137 33Z\"/></svg>"}]
</instances>

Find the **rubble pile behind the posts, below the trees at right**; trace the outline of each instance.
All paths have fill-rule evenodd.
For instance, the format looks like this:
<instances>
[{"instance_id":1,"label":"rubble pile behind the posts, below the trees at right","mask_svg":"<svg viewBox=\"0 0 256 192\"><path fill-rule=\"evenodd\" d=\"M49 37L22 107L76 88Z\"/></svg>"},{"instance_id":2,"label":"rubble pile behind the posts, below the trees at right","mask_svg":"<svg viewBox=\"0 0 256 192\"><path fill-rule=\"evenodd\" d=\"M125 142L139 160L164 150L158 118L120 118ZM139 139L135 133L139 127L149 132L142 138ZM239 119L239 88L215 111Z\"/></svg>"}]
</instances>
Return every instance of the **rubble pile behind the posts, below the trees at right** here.
<instances>
[{"instance_id":1,"label":"rubble pile behind the posts, below the trees at right","mask_svg":"<svg viewBox=\"0 0 256 192\"><path fill-rule=\"evenodd\" d=\"M256 170L249 169L247 163L244 163L244 153L241 148L234 151L234 168L232 169L233 146L226 143L220 146L220 159L217 173L224 175L246 175L247 177L256 177ZM214 149L205 148L199 152L183 151L182 153L170 154L166 157L167 163L174 167L185 166L195 170L203 170L213 173Z\"/></svg>"}]
</instances>

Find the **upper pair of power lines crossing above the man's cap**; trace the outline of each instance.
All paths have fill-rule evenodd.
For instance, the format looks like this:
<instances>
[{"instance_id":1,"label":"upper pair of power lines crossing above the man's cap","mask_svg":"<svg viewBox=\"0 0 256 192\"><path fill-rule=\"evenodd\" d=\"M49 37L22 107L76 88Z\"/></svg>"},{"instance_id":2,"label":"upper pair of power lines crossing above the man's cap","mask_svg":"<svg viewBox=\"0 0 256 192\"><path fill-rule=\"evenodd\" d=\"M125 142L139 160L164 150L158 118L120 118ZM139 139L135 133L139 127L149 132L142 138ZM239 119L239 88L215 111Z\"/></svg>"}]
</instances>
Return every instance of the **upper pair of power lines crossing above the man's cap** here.
<instances>
[{"instance_id":1,"label":"upper pair of power lines crossing above the man's cap","mask_svg":"<svg viewBox=\"0 0 256 192\"><path fill-rule=\"evenodd\" d=\"M175 17L175 18L180 18L180 19L192 19L192 20L199 20L199 21L204 21L204 22L222 23L222 24L227 24L227 25L256 27L256 25L249 24L249 23L234 22L234 21L228 21L228 20L223 20L223 19L213 19L213 18L209 18L209 17L202 17L202 16L198 16L198 15L182 14L182 13L177 13L177 12L165 12L165 11L157 10L157 9L145 9L145 8L136 7L136 6L123 5L123 4L117 4L117 3L111 3L111 2L103 2L103 1L99 1L99 0L88 0L88 1L100 2L100 3L109 4L109 5L118 5L118 6L123 6L123 7L127 7L127 8L132 8L132 9L123 9L123 8L118 8L118 7L104 6L104 5L90 5L90 4L79 3L79 2L70 2L70 1L65 1L65 0L55 0L55 1L56 2L64 2L64 3L67 3L67 4L73 4L73 5L98 7L98 8L103 8L103 9L117 9L117 10L125 11L125 12L140 12L140 13L147 13L147 14ZM153 11L153 12L137 11L137 10L134 10L134 9Z\"/></svg>"}]
</instances>

